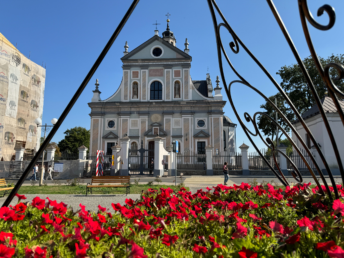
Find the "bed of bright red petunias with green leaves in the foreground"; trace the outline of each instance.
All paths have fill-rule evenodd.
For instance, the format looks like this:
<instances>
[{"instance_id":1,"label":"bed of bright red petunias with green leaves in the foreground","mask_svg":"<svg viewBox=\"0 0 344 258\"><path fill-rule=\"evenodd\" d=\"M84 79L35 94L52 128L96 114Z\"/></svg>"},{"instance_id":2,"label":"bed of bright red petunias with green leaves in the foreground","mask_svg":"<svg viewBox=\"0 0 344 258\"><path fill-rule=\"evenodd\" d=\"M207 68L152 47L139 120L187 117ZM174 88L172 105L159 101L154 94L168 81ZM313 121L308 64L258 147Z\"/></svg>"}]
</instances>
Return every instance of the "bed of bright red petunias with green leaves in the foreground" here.
<instances>
[{"instance_id":1,"label":"bed of bright red petunias with green leaves in the foreground","mask_svg":"<svg viewBox=\"0 0 344 258\"><path fill-rule=\"evenodd\" d=\"M0 208L0 257L344 257L344 204L318 187L210 190L148 190L112 213L17 195Z\"/></svg>"}]
</instances>

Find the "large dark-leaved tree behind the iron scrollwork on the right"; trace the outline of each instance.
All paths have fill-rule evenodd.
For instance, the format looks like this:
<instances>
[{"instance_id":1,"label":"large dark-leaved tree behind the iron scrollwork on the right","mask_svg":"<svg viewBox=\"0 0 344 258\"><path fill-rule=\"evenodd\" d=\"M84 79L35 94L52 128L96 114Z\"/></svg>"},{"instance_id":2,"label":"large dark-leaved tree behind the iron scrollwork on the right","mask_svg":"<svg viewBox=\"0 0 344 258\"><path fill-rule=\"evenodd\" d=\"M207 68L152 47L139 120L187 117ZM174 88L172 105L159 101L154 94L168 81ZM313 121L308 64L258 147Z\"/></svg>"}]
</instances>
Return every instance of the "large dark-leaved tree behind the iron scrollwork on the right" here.
<instances>
[{"instance_id":1,"label":"large dark-leaved tree behind the iron scrollwork on the right","mask_svg":"<svg viewBox=\"0 0 344 258\"><path fill-rule=\"evenodd\" d=\"M344 54L332 54L326 59L319 56L319 61L323 67L331 62L344 64ZM303 64L306 67L310 78L312 79L316 92L318 93L320 98L323 98L325 96L327 88L325 87L320 73L318 72L318 69L314 64L313 58L311 56L306 57L303 60ZM285 65L281 67L281 69L276 74L281 76L282 82L280 85L282 89L284 90L284 92L286 92L291 102L301 115L315 105L311 89L307 84L306 79L303 76L298 64L292 64L290 66ZM330 69L330 76L332 78L338 76L336 69ZM344 92L344 80L333 80L333 83L342 92ZM274 102L275 97L277 97L278 108L283 112L283 114L288 118L289 121L293 122L296 116L289 107L287 101L282 98L280 93L269 97L269 99ZM266 114L275 119L275 110L270 106L270 104L265 102L265 104L261 105L260 107L265 110L264 112ZM273 137L276 136L276 125L274 125L269 119L265 118L264 116L259 116L257 120L258 128L264 133L264 135L271 135L271 138L273 139ZM278 116L278 122L287 132L290 131L290 128L288 128L287 124L281 120L280 116Z\"/></svg>"}]
</instances>

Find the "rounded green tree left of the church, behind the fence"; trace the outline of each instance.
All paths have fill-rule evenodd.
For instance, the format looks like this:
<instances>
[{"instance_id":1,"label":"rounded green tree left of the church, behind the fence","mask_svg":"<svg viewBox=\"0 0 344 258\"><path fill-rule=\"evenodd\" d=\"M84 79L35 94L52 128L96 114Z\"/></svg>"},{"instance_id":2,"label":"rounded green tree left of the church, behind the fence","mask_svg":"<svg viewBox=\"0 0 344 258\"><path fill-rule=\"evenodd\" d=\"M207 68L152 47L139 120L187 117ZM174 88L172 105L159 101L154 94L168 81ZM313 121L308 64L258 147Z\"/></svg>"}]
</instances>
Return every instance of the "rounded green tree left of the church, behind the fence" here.
<instances>
[{"instance_id":1,"label":"rounded green tree left of the church, behind the fence","mask_svg":"<svg viewBox=\"0 0 344 258\"><path fill-rule=\"evenodd\" d=\"M78 152L78 148L83 144L89 148L90 131L85 127L76 126L71 129L67 129L64 134L65 138L58 142L57 146L60 151L69 150L72 153Z\"/></svg>"}]
</instances>

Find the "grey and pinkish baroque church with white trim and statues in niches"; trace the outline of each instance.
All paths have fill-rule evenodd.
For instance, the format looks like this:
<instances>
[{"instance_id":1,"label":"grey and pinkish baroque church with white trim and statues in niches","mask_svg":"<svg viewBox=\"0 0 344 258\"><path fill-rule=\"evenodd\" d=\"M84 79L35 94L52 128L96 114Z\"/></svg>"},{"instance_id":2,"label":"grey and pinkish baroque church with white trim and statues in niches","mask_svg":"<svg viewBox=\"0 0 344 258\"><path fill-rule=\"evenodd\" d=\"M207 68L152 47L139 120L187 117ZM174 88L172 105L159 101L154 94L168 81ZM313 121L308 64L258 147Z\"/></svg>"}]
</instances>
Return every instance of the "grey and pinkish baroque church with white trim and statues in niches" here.
<instances>
[{"instance_id":1,"label":"grey and pinkish baroque church with white trim and statues in niches","mask_svg":"<svg viewBox=\"0 0 344 258\"><path fill-rule=\"evenodd\" d=\"M179 142L179 151L205 153L205 147L235 151L236 124L224 116L221 87L217 76L213 87L209 74L204 80L192 80L192 57L185 40L184 51L176 47L169 29L158 30L148 41L128 51L124 46L123 77L116 92L101 100L98 79L91 108L90 152L111 154L112 146L127 133L131 149L154 148L159 134L164 147Z\"/></svg>"}]
</instances>

